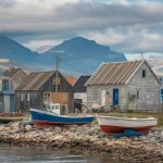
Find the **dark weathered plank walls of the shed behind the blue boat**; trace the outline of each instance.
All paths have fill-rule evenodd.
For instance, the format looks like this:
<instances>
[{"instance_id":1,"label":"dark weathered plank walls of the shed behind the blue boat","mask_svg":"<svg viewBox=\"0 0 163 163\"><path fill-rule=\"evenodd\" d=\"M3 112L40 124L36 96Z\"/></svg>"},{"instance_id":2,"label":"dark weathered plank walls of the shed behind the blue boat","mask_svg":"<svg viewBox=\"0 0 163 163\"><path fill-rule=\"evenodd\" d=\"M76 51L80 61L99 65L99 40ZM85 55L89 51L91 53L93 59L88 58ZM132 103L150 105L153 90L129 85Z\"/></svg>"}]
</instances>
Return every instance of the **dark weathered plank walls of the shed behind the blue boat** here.
<instances>
[{"instance_id":1,"label":"dark weathered plank walls of the shed behind the blue boat","mask_svg":"<svg viewBox=\"0 0 163 163\"><path fill-rule=\"evenodd\" d=\"M29 108L42 109L45 108L43 93L46 91L55 91L53 85L53 78L55 74L51 76L39 90L16 90L15 92L15 109L16 111L28 111ZM64 77L59 73L59 78L61 80L60 92L71 92L72 86L64 79ZM24 97L22 100L22 96ZM28 100L29 97L29 100Z\"/></svg>"}]
</instances>

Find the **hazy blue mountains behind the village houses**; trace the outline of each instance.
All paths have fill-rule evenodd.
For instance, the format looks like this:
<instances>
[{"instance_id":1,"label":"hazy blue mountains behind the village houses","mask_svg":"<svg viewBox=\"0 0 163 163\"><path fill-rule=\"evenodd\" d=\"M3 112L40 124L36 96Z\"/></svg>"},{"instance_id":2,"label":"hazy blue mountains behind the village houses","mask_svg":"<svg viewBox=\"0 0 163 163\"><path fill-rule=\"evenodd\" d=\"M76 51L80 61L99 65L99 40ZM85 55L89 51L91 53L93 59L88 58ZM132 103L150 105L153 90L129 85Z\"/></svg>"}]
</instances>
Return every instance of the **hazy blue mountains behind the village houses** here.
<instances>
[{"instance_id":1,"label":"hazy blue mountains behind the village houses","mask_svg":"<svg viewBox=\"0 0 163 163\"><path fill-rule=\"evenodd\" d=\"M91 74L101 62L126 61L123 53L83 37L64 40L45 52L34 52L8 37L0 37L0 59L9 59L15 66L29 71L54 70L55 58L60 70L67 74ZM5 67L4 64L1 64ZM11 66L11 65L10 65Z\"/></svg>"}]
</instances>

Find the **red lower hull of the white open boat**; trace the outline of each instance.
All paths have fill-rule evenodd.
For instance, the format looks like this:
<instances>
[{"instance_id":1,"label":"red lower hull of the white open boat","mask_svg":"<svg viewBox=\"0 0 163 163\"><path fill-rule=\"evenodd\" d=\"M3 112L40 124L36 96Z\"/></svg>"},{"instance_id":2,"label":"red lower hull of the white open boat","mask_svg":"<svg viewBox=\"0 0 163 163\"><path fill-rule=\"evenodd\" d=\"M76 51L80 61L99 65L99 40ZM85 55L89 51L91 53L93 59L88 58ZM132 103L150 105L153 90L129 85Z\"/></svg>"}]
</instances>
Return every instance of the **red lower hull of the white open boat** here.
<instances>
[{"instance_id":1,"label":"red lower hull of the white open boat","mask_svg":"<svg viewBox=\"0 0 163 163\"><path fill-rule=\"evenodd\" d=\"M100 125L100 127L104 133L110 133L110 134L123 133L125 131L125 129L128 129L128 127L108 126L108 125ZM137 130L139 133L148 133L151 127L154 126L131 127L131 129Z\"/></svg>"}]
</instances>

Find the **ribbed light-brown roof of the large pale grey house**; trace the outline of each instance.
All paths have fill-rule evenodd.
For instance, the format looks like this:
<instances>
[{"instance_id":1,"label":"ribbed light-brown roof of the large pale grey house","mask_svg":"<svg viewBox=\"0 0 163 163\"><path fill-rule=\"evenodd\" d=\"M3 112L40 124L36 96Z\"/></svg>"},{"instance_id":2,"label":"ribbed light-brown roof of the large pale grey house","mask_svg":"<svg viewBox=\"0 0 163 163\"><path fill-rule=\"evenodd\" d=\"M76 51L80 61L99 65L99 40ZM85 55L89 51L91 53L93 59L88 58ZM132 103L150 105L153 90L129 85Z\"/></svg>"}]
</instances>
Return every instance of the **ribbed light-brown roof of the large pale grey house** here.
<instances>
[{"instance_id":1,"label":"ribbed light-brown roof of the large pale grey house","mask_svg":"<svg viewBox=\"0 0 163 163\"><path fill-rule=\"evenodd\" d=\"M86 85L124 85L141 63L142 61L102 63Z\"/></svg>"}]
</instances>

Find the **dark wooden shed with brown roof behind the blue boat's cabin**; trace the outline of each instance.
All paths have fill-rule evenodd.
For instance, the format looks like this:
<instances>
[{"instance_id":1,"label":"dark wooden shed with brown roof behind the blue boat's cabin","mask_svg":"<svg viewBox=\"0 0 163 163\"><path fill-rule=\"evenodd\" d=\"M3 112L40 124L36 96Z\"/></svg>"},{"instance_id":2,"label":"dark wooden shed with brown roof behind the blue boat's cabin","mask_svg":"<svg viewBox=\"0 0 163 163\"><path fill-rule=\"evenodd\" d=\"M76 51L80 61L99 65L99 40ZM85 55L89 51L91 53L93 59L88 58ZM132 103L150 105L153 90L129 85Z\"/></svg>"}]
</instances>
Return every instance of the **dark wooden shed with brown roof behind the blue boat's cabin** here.
<instances>
[{"instance_id":1,"label":"dark wooden shed with brown roof behind the blue boat's cabin","mask_svg":"<svg viewBox=\"0 0 163 163\"><path fill-rule=\"evenodd\" d=\"M15 106L22 112L29 108L43 109L47 101L70 106L72 86L59 71L35 72L17 87Z\"/></svg>"}]
</instances>

